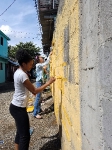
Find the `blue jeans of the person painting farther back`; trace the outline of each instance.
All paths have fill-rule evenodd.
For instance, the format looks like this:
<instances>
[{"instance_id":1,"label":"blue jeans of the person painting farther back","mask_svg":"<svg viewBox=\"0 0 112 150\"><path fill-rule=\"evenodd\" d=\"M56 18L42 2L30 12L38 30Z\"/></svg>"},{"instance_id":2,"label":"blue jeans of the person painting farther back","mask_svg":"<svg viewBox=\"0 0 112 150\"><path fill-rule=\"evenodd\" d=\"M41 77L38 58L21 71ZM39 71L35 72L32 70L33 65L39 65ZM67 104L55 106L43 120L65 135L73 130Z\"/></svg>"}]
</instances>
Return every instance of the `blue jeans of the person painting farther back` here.
<instances>
[{"instance_id":1,"label":"blue jeans of the person painting farther back","mask_svg":"<svg viewBox=\"0 0 112 150\"><path fill-rule=\"evenodd\" d=\"M42 85L42 82L36 82L36 87L40 87ZM35 103L34 103L34 112L33 115L36 117L40 113L40 98L41 93L38 93L36 95Z\"/></svg>"}]
</instances>

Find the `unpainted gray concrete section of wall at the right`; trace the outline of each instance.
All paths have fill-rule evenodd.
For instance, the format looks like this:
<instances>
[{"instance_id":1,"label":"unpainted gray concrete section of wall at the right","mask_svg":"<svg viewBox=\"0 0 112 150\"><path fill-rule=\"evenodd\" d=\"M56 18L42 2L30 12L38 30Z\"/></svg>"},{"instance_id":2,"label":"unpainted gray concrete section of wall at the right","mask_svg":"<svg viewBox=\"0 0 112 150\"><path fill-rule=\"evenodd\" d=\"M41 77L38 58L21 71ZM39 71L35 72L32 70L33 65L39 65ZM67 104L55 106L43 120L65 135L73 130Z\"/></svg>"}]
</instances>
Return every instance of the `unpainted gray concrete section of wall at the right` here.
<instances>
[{"instance_id":1,"label":"unpainted gray concrete section of wall at the right","mask_svg":"<svg viewBox=\"0 0 112 150\"><path fill-rule=\"evenodd\" d=\"M112 150L112 0L81 2L82 150Z\"/></svg>"}]
</instances>

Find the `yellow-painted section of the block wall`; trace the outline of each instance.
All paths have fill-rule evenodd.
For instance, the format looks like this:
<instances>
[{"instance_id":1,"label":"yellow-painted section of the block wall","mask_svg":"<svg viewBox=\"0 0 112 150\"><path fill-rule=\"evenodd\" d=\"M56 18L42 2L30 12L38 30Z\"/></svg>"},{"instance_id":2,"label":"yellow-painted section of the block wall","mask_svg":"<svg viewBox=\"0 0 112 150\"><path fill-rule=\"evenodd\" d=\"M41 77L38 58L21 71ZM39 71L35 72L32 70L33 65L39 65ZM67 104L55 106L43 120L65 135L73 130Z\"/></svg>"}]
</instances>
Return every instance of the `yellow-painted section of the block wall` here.
<instances>
[{"instance_id":1,"label":"yellow-painted section of the block wall","mask_svg":"<svg viewBox=\"0 0 112 150\"><path fill-rule=\"evenodd\" d=\"M81 150L79 0L62 1L52 41L50 66L51 75L56 77L52 92L57 123L62 129L62 150Z\"/></svg>"}]
</instances>

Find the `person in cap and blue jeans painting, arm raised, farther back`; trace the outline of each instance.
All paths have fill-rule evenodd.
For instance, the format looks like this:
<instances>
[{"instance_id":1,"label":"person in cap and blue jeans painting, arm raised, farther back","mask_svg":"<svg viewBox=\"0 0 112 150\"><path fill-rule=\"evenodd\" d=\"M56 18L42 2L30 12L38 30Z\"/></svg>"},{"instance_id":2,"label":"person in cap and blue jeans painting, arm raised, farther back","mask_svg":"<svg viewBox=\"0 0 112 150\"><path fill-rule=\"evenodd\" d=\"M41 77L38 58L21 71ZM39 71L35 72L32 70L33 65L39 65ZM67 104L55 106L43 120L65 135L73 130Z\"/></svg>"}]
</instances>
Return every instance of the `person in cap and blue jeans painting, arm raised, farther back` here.
<instances>
[{"instance_id":1,"label":"person in cap and blue jeans painting, arm raised, farther back","mask_svg":"<svg viewBox=\"0 0 112 150\"><path fill-rule=\"evenodd\" d=\"M36 64L36 87L40 87L43 84L43 67L49 64L50 56L52 55L52 52L49 54L47 60L44 62L45 55L38 55L36 57L37 64ZM33 116L37 119L41 119L42 116L39 114L41 111L40 108L40 98L41 98L41 92L36 95L35 103L34 103L34 112Z\"/></svg>"}]
</instances>

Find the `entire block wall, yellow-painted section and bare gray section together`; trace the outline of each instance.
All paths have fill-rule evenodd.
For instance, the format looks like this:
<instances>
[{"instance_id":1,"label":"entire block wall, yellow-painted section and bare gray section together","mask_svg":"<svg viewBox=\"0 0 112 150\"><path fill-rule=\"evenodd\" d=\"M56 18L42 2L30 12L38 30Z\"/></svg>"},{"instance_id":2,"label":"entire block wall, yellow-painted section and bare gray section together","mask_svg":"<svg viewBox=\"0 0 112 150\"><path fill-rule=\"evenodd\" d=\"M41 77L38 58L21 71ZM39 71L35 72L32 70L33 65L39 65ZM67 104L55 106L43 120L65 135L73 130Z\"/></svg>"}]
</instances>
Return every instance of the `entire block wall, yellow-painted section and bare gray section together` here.
<instances>
[{"instance_id":1,"label":"entire block wall, yellow-painted section and bare gray section together","mask_svg":"<svg viewBox=\"0 0 112 150\"><path fill-rule=\"evenodd\" d=\"M112 149L112 1L61 0L51 75L62 150Z\"/></svg>"}]
</instances>

